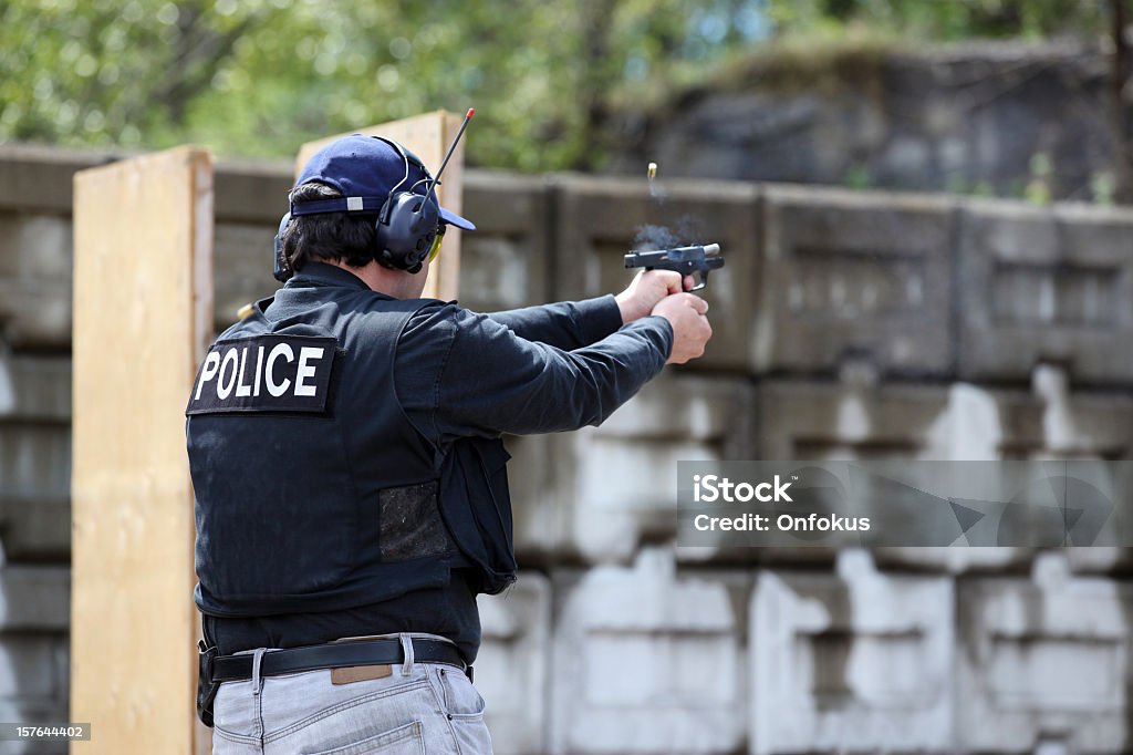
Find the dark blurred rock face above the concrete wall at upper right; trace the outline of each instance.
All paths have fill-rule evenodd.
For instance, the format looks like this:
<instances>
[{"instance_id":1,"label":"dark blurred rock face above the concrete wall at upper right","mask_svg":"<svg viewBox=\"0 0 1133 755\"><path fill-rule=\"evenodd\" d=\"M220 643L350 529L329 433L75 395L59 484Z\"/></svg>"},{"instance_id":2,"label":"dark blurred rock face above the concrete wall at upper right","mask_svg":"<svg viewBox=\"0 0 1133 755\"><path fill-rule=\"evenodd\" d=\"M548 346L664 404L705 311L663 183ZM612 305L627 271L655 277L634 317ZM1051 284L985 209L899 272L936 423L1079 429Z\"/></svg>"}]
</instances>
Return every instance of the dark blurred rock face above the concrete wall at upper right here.
<instances>
[{"instance_id":1,"label":"dark blurred rock face above the concrete wall at upper right","mask_svg":"<svg viewBox=\"0 0 1133 755\"><path fill-rule=\"evenodd\" d=\"M761 53L640 124L611 172L1090 200L1111 176L1097 50L946 48ZM803 71L803 73L800 73ZM1047 170L1049 178L1043 178Z\"/></svg>"}]
</instances>

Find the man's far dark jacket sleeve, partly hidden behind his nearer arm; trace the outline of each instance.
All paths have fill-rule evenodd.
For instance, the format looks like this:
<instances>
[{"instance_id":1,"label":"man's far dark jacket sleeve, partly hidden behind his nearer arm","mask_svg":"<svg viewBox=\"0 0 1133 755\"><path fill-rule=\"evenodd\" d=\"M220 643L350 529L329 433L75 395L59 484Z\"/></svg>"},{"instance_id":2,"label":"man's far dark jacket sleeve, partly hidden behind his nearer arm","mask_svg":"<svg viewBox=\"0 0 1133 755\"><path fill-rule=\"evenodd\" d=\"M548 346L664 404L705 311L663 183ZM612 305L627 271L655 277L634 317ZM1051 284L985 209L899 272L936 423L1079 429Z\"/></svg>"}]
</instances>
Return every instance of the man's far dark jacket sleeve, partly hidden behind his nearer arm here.
<instances>
[{"instance_id":1,"label":"man's far dark jacket sleeve, partly hidden behind his nearer arm","mask_svg":"<svg viewBox=\"0 0 1133 755\"><path fill-rule=\"evenodd\" d=\"M487 316L525 340L568 351L600 341L622 326L622 313L612 295L494 312Z\"/></svg>"}]
</instances>

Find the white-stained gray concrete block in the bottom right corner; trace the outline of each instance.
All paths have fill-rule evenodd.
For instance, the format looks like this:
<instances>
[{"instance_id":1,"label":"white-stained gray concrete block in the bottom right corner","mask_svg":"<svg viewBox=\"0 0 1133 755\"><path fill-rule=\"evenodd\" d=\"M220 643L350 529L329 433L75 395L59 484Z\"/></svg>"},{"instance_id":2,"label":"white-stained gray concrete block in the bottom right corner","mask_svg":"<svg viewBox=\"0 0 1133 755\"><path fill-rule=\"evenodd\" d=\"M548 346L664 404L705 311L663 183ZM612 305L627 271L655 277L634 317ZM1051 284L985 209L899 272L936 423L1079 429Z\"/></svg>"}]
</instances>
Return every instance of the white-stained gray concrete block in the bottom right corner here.
<instances>
[{"instance_id":1,"label":"white-stained gray concrete block in the bottom right corner","mask_svg":"<svg viewBox=\"0 0 1133 755\"><path fill-rule=\"evenodd\" d=\"M1048 553L1031 580L962 579L957 605L959 748L1127 749L1133 586Z\"/></svg>"}]
</instances>

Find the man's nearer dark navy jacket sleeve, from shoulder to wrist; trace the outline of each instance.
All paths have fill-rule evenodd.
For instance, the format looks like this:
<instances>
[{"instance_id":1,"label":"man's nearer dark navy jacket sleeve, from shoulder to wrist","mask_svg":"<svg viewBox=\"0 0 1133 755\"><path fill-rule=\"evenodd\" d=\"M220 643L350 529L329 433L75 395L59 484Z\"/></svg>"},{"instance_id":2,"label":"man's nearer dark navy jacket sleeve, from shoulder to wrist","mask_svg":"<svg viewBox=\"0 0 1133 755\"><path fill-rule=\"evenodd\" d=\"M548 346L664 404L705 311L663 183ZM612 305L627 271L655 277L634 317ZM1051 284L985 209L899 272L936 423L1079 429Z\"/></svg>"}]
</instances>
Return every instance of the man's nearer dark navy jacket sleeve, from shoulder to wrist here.
<instances>
[{"instance_id":1,"label":"man's nearer dark navy jacket sleeve, from shoulder to wrist","mask_svg":"<svg viewBox=\"0 0 1133 755\"><path fill-rule=\"evenodd\" d=\"M418 313L402 333L398 398L418 431L442 446L576 430L600 424L659 373L672 341L668 321L649 316L566 350L446 305Z\"/></svg>"}]
</instances>

